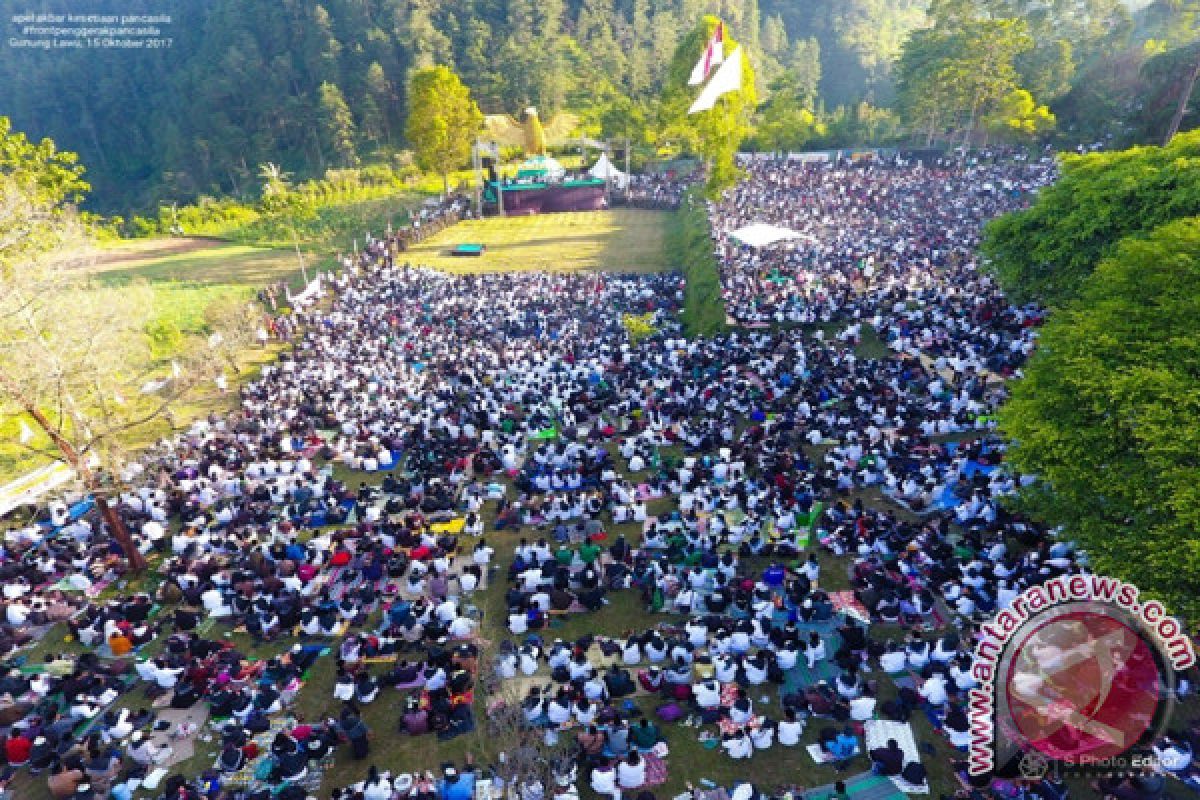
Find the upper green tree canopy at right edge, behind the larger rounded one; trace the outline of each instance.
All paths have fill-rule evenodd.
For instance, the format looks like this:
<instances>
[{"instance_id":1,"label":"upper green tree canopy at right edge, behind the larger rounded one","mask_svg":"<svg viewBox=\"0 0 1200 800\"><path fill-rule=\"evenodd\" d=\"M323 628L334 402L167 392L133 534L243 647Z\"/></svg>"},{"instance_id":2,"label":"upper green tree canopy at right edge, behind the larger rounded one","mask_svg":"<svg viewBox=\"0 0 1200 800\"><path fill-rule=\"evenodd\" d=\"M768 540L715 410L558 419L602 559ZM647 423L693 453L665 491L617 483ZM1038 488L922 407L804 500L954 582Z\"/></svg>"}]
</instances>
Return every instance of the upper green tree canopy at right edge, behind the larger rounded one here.
<instances>
[{"instance_id":1,"label":"upper green tree canopy at right edge, behind the larger rounded one","mask_svg":"<svg viewBox=\"0 0 1200 800\"><path fill-rule=\"evenodd\" d=\"M1200 131L1166 148L1067 156L1032 206L991 222L983 252L1016 300L1069 302L1129 235L1200 213Z\"/></svg>"}]
</instances>

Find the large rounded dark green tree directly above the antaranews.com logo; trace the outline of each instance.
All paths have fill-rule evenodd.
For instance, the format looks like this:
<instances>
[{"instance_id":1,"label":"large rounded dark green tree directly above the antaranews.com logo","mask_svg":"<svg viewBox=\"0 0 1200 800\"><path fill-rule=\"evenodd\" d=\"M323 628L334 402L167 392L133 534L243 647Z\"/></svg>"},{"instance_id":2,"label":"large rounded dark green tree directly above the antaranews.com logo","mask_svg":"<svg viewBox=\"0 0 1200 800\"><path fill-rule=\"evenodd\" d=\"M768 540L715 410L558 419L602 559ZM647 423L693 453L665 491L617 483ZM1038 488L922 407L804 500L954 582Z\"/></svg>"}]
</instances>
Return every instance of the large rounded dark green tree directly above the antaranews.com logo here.
<instances>
[{"instance_id":1,"label":"large rounded dark green tree directly above the antaranews.com logo","mask_svg":"<svg viewBox=\"0 0 1200 800\"><path fill-rule=\"evenodd\" d=\"M1153 180L1153 179L1152 179ZM1069 223L1068 223L1069 224ZM1200 218L1122 240L1044 326L1000 415L1024 505L1102 573L1200 620Z\"/></svg>"}]
</instances>

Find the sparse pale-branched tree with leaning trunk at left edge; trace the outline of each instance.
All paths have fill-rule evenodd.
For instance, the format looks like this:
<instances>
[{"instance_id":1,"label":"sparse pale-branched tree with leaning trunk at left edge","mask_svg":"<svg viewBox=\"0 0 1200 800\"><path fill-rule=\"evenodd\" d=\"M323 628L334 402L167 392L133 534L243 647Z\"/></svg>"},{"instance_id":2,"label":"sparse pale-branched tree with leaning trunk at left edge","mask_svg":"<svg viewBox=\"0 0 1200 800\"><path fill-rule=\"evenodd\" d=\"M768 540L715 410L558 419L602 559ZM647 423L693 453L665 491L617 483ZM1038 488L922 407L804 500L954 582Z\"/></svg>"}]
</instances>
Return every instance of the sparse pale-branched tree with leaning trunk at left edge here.
<instances>
[{"instance_id":1,"label":"sparse pale-branched tree with leaning trunk at left edge","mask_svg":"<svg viewBox=\"0 0 1200 800\"><path fill-rule=\"evenodd\" d=\"M97 289L80 260L89 240L71 204L83 170L53 143L31 145L0 124L0 411L41 433L22 444L62 459L95 499L130 567L145 559L109 504L131 434L169 420L174 404L214 377L200 342L166 366L152 357L145 285ZM10 246L11 236L23 239ZM28 422L26 422L28 420Z\"/></svg>"}]
</instances>

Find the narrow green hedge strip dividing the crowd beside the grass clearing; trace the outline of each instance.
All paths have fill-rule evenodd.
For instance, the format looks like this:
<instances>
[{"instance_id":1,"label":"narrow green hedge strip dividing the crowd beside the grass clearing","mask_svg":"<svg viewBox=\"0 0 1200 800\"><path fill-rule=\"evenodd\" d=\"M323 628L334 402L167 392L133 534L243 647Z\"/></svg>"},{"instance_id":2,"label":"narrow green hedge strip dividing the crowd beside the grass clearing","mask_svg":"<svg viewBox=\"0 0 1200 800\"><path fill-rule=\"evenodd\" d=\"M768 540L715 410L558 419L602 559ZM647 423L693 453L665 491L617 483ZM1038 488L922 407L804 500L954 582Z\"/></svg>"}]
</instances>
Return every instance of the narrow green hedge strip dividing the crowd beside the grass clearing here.
<instances>
[{"instance_id":1,"label":"narrow green hedge strip dividing the crowd beside the grass clearing","mask_svg":"<svg viewBox=\"0 0 1200 800\"><path fill-rule=\"evenodd\" d=\"M667 224L666 248L686 278L683 324L689 336L712 336L726 330L721 273L716 265L713 233L704 203L688 192Z\"/></svg>"}]
</instances>

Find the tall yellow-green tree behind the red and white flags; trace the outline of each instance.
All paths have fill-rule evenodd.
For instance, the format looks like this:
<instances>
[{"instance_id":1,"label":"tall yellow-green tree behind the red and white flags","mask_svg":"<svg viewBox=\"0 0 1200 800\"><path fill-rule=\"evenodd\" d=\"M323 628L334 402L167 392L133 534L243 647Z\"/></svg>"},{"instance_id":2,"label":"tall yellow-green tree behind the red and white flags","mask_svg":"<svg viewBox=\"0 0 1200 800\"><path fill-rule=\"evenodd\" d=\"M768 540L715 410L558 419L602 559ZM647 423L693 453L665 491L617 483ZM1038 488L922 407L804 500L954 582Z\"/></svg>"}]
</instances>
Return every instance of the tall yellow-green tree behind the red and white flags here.
<instances>
[{"instance_id":1,"label":"tall yellow-green tree behind the red and white flags","mask_svg":"<svg viewBox=\"0 0 1200 800\"><path fill-rule=\"evenodd\" d=\"M688 85L688 79L719 24L721 20L716 17L706 16L679 42L667 70L666 88L659 107L664 138L680 142L708 162L707 191L710 196L737 182L738 146L752 130L750 120L758 103L754 68L743 50L742 89L722 95L710 110L688 113L697 92L695 86ZM726 26L724 48L726 58L732 55L737 47L738 43Z\"/></svg>"}]
</instances>

